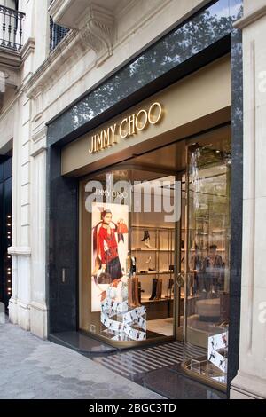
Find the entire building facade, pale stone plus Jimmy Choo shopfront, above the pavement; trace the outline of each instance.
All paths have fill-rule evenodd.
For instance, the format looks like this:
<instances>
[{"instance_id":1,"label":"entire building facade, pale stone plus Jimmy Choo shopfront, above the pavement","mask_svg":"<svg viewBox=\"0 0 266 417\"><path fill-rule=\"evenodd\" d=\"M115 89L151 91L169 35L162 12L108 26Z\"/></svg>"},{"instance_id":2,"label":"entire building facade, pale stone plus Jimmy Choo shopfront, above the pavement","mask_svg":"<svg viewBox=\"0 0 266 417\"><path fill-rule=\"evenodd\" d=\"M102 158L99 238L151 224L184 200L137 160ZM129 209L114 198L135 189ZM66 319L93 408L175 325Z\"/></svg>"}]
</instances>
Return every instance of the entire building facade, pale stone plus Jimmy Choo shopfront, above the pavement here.
<instances>
[{"instance_id":1,"label":"entire building facade, pale stone plus Jimmy Choo shopfront, above the pavement","mask_svg":"<svg viewBox=\"0 0 266 417\"><path fill-rule=\"evenodd\" d=\"M0 3L10 321L265 397L265 0Z\"/></svg>"}]
</instances>

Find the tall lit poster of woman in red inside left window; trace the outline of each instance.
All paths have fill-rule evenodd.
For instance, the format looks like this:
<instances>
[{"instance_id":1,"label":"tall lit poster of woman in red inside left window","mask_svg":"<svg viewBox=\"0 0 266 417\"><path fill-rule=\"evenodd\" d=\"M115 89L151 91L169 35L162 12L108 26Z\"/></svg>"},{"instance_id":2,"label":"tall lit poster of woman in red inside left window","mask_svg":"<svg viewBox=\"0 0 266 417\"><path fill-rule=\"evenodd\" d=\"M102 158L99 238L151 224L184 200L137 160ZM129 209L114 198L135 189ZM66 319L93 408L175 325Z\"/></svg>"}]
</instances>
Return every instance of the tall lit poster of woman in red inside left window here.
<instances>
[{"instance_id":1,"label":"tall lit poster of woman in red inside left window","mask_svg":"<svg viewBox=\"0 0 266 417\"><path fill-rule=\"evenodd\" d=\"M91 311L95 312L101 311L106 298L118 303L122 299L129 250L129 207L93 202L91 222Z\"/></svg>"}]
</instances>

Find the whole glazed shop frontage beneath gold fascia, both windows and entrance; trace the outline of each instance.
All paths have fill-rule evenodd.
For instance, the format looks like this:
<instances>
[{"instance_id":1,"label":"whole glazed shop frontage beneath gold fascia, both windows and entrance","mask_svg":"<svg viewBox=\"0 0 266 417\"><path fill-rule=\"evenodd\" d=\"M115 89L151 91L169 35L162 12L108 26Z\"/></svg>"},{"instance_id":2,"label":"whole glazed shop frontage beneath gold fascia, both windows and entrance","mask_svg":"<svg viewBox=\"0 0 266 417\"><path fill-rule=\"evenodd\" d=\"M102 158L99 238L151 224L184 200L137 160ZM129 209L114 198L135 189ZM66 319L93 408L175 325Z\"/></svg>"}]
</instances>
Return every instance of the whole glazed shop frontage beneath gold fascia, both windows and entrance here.
<instances>
[{"instance_id":1,"label":"whole glazed shop frontage beneath gold fascia, both windows and entrance","mask_svg":"<svg viewBox=\"0 0 266 417\"><path fill-rule=\"evenodd\" d=\"M183 341L185 371L225 386L230 209L230 125L82 178L82 331Z\"/></svg>"}]
</instances>

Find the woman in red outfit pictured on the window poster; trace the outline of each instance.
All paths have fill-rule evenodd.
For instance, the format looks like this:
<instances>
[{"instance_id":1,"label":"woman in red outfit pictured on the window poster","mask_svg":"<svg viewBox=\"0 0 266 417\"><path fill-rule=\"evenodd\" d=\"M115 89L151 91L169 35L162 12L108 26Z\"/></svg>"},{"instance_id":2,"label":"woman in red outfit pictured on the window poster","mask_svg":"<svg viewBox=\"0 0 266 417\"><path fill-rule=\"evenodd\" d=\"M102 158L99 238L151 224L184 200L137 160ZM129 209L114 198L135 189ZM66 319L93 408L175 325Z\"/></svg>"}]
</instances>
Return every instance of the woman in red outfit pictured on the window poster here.
<instances>
[{"instance_id":1,"label":"woman in red outfit pictured on the window poster","mask_svg":"<svg viewBox=\"0 0 266 417\"><path fill-rule=\"evenodd\" d=\"M114 227L111 227L111 224ZM101 222L94 228L94 248L97 250L97 258L100 268L110 275L111 280L121 279L121 263L118 255L118 243L115 233L119 227L112 221L111 210L101 212ZM120 239L120 238L119 238Z\"/></svg>"}]
</instances>

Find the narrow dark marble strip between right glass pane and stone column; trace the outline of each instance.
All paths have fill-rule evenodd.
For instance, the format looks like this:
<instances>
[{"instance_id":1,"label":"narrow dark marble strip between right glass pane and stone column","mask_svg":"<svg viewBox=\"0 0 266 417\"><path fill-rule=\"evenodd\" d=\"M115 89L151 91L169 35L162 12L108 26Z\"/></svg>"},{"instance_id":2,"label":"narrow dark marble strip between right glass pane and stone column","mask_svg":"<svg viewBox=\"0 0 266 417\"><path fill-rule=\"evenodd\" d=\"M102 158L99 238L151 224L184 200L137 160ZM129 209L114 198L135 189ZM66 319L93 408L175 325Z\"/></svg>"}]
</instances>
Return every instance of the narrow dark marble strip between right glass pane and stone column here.
<instances>
[{"instance_id":1,"label":"narrow dark marble strip between right glass pane and stone column","mask_svg":"<svg viewBox=\"0 0 266 417\"><path fill-rule=\"evenodd\" d=\"M231 286L228 389L239 369L243 219L243 59L242 34L239 30L231 32L231 77Z\"/></svg>"}]
</instances>

